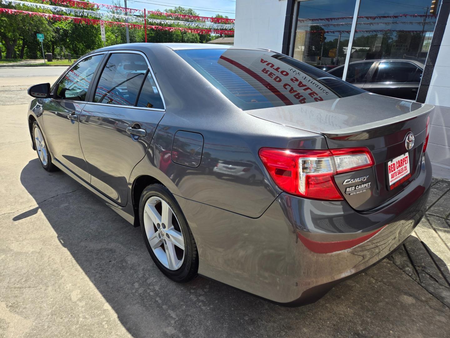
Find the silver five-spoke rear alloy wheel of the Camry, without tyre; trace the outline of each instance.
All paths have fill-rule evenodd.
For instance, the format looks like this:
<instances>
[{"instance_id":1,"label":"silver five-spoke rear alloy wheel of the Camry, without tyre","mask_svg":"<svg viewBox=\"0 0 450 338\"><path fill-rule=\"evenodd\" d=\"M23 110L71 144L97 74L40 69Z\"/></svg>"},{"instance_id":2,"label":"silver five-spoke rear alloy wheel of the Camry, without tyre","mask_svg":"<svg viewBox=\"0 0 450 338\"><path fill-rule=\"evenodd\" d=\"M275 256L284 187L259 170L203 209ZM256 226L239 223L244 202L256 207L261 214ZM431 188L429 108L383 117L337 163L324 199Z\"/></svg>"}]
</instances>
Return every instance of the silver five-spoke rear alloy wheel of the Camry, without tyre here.
<instances>
[{"instance_id":1,"label":"silver five-spoke rear alloy wheel of the Camry, without tyre","mask_svg":"<svg viewBox=\"0 0 450 338\"><path fill-rule=\"evenodd\" d=\"M184 260L184 237L172 208L161 197L145 202L144 228L148 243L167 269L177 270Z\"/></svg>"}]
</instances>

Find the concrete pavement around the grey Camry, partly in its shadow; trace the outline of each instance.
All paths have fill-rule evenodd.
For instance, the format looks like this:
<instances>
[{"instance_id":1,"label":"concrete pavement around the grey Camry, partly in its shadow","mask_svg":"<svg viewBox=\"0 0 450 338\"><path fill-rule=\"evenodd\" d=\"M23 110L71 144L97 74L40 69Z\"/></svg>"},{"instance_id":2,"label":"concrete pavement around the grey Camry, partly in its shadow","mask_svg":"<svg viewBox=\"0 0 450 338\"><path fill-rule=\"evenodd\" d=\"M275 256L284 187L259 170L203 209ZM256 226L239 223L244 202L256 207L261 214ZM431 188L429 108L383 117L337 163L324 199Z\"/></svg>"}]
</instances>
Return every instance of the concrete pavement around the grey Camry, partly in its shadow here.
<instances>
[{"instance_id":1,"label":"concrete pavement around the grey Camry, partly in its shadow","mask_svg":"<svg viewBox=\"0 0 450 338\"><path fill-rule=\"evenodd\" d=\"M139 228L31 150L23 87L62 71L0 69L24 103L0 93L0 337L450 337L449 308L389 260L298 308L171 282Z\"/></svg>"}]
</instances>

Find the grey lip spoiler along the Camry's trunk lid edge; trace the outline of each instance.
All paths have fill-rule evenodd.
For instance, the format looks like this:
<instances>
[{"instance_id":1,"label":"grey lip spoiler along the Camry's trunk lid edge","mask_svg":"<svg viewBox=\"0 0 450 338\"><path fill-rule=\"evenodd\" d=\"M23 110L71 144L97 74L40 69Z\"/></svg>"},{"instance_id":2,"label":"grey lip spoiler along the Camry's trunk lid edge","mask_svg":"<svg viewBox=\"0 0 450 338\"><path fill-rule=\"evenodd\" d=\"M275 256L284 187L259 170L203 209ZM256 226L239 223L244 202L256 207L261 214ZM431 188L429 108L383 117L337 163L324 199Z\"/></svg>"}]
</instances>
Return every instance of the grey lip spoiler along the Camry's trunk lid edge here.
<instances>
[{"instance_id":1,"label":"grey lip spoiler along the Camry's trunk lid edge","mask_svg":"<svg viewBox=\"0 0 450 338\"><path fill-rule=\"evenodd\" d=\"M342 128L338 130L331 130L328 132L321 132L322 135L331 140L366 140L373 137L381 137L399 131L403 128L402 122L407 122L411 119L416 119L421 116L428 115L434 109L434 105L423 104L419 109L413 110L406 114L401 114L389 119L381 121L361 124L355 127ZM423 123L425 128L425 123Z\"/></svg>"}]
</instances>

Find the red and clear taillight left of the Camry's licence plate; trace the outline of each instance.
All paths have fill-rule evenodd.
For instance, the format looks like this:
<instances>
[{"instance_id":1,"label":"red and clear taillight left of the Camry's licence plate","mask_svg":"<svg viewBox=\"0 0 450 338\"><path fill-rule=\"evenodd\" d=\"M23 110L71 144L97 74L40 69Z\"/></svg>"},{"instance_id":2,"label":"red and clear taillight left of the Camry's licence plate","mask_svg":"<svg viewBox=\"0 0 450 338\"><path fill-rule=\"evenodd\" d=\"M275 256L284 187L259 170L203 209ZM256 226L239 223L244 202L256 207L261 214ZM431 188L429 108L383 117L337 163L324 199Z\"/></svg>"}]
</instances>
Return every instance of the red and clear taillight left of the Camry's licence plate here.
<instances>
[{"instance_id":1,"label":"red and clear taillight left of the Camry's licence plate","mask_svg":"<svg viewBox=\"0 0 450 338\"><path fill-rule=\"evenodd\" d=\"M288 150L261 148L259 157L285 192L316 200L343 200L333 176L374 165L369 149Z\"/></svg>"}]
</instances>

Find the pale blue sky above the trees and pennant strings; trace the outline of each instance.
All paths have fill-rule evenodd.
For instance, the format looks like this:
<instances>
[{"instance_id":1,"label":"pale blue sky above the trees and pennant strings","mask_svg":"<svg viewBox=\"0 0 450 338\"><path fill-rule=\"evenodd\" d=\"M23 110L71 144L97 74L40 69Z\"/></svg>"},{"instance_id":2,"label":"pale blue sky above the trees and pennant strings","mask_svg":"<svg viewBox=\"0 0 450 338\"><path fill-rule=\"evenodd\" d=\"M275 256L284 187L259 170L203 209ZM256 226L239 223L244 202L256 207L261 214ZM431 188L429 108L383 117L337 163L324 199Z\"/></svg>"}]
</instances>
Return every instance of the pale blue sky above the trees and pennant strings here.
<instances>
[{"instance_id":1,"label":"pale blue sky above the trees and pennant strings","mask_svg":"<svg viewBox=\"0 0 450 338\"><path fill-rule=\"evenodd\" d=\"M111 0L94 0L103 4L111 4ZM123 6L123 0L121 0ZM194 9L200 16L215 16L216 14L226 15L234 18L236 1L234 0L127 0L127 6L136 9L171 9L176 6L183 6Z\"/></svg>"}]
</instances>

